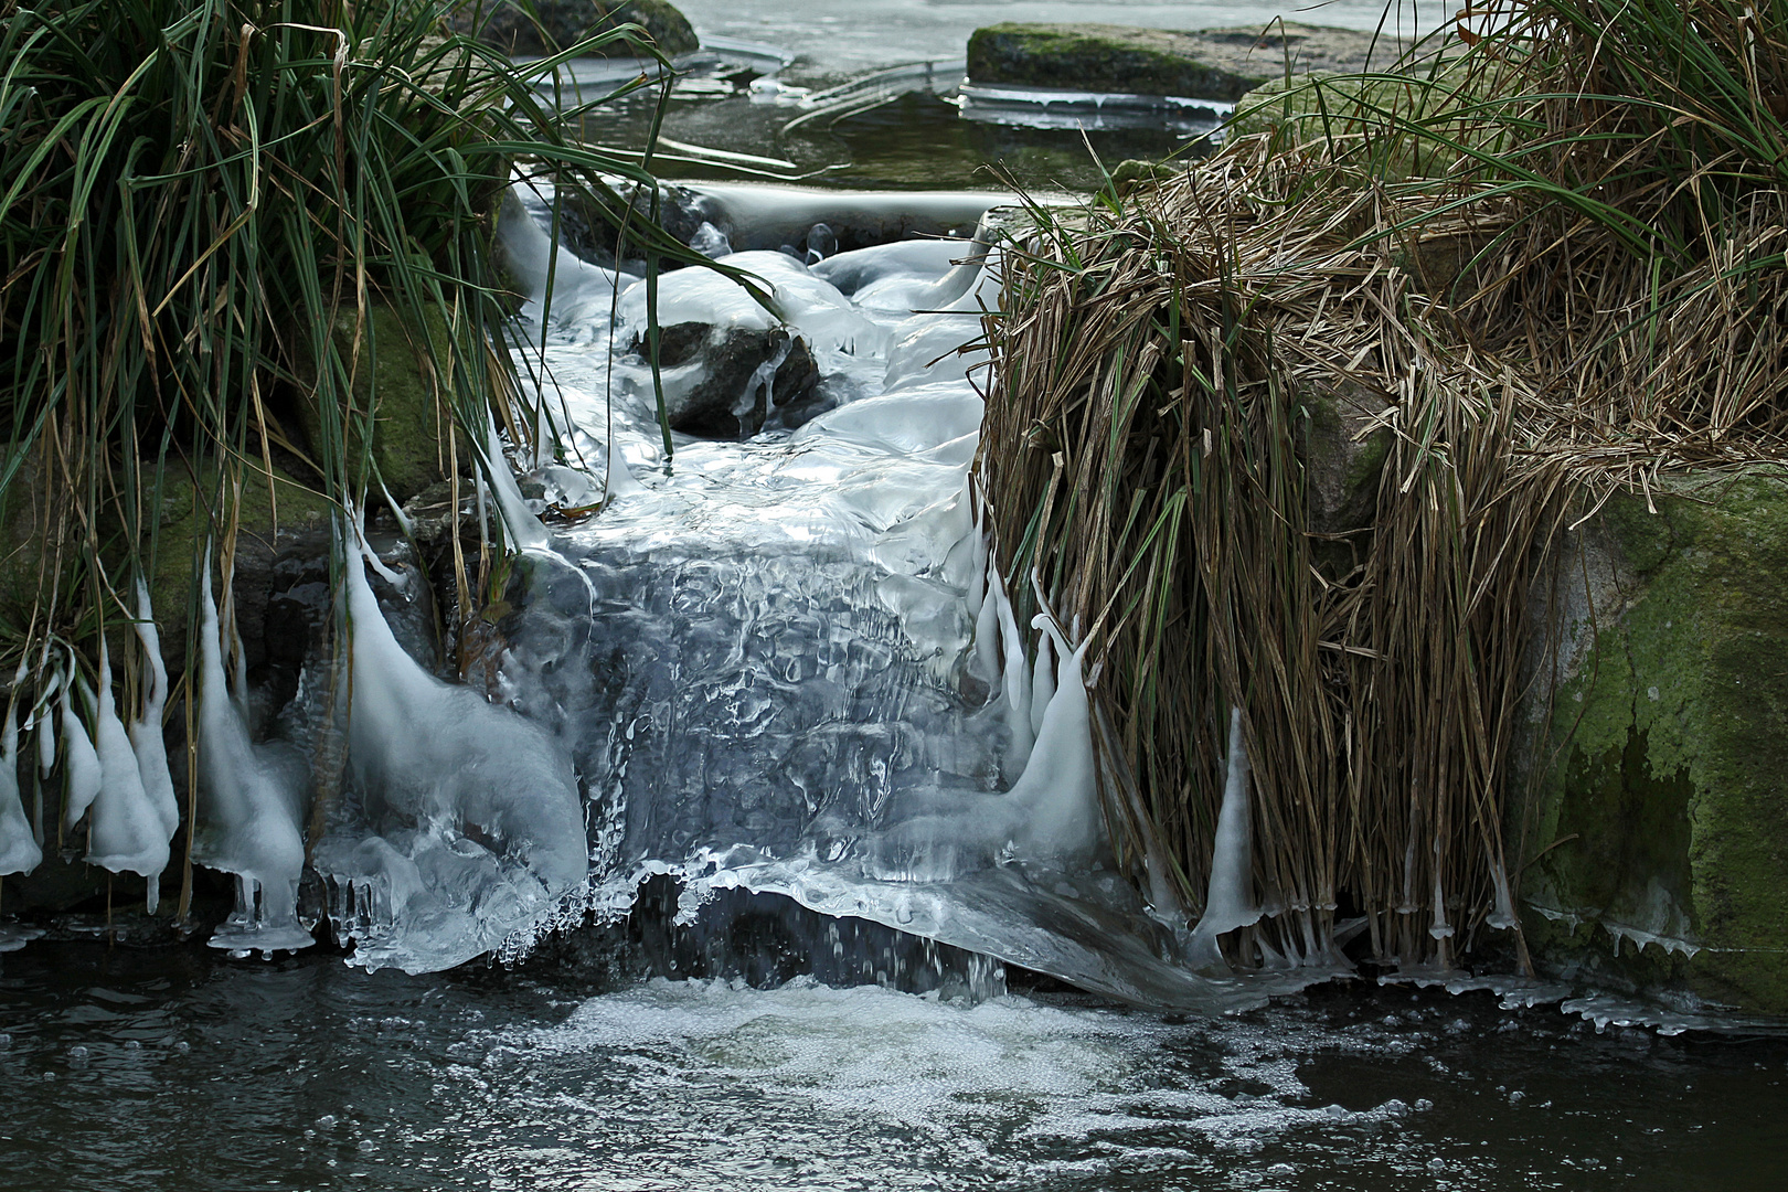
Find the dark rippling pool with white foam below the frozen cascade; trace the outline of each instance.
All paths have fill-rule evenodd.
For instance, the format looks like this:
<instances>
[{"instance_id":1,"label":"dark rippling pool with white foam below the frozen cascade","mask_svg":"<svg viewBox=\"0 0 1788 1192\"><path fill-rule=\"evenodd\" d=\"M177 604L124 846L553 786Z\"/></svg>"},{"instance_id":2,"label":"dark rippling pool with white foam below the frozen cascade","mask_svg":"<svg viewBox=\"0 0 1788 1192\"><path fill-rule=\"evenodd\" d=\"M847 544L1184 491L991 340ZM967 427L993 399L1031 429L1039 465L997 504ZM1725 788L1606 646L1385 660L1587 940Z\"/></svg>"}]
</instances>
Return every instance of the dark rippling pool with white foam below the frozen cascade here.
<instances>
[{"instance_id":1,"label":"dark rippling pool with white foam below the frozen cascade","mask_svg":"<svg viewBox=\"0 0 1788 1192\"><path fill-rule=\"evenodd\" d=\"M797 979L34 945L0 1187L1779 1188L1788 1044L1323 988L1175 1020Z\"/></svg>"}]
</instances>

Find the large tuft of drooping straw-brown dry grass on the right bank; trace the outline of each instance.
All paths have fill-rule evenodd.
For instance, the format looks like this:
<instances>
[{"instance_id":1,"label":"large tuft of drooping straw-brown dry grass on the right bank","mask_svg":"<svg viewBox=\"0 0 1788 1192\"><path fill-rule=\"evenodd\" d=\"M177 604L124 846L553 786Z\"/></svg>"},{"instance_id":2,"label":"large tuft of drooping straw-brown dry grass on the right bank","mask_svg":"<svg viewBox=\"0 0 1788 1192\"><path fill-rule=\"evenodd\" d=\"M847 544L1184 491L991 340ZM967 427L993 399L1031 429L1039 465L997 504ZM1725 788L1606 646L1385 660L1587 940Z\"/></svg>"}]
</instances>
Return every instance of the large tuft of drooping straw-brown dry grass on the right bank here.
<instances>
[{"instance_id":1,"label":"large tuft of drooping straw-brown dry grass on the right bank","mask_svg":"<svg viewBox=\"0 0 1788 1192\"><path fill-rule=\"evenodd\" d=\"M1244 709L1243 967L1328 961L1346 915L1382 961L1488 924L1525 967L1538 561L1584 488L1788 457L1788 4L1502 9L1427 75L1312 80L1166 182L1039 211L989 318L1008 590L1094 638L1112 836L1191 917Z\"/></svg>"}]
</instances>

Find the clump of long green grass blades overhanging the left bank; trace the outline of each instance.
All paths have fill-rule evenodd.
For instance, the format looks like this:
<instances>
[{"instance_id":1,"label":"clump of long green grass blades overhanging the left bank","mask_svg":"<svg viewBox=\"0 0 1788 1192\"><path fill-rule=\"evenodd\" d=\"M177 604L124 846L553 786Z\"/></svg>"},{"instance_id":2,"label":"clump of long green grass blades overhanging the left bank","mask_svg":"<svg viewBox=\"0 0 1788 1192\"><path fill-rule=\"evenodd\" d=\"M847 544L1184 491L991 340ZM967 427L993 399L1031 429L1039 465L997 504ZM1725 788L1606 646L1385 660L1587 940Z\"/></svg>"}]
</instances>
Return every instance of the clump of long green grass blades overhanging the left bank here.
<instances>
[{"instance_id":1,"label":"clump of long green grass blades overhanging the left bank","mask_svg":"<svg viewBox=\"0 0 1788 1192\"><path fill-rule=\"evenodd\" d=\"M533 80L595 45L653 50L626 27L524 75L449 7L0 0L0 504L34 561L11 647L127 618L116 593L193 484L227 536L281 452L336 504L395 481L379 354L417 357L442 459L476 457L492 409L535 425L508 416L492 252L511 170L604 195L649 175L572 139L586 109Z\"/></svg>"}]
</instances>

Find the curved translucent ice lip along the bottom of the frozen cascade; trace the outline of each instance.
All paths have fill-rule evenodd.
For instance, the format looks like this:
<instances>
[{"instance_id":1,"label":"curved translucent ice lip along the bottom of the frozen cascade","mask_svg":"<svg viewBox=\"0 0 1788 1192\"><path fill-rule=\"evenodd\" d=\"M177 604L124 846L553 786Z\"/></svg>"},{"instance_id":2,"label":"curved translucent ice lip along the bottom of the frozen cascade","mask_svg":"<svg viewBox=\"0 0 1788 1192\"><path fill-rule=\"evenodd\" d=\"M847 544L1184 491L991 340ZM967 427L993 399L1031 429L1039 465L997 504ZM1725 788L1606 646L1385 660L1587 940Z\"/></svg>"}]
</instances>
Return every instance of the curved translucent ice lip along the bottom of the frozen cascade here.
<instances>
[{"instance_id":1,"label":"curved translucent ice lip along the bottom of the frozen cascade","mask_svg":"<svg viewBox=\"0 0 1788 1192\"><path fill-rule=\"evenodd\" d=\"M1160 931L1153 920L1101 913L1092 902L1057 894L1016 865L994 865L948 883L876 881L837 872L812 860L747 860L731 851L688 865L647 863L624 885L592 892L597 913L624 915L647 877L672 874L685 885L685 906L712 890L780 894L831 919L864 919L907 935L1042 972L1089 994L1155 1012L1241 1013L1321 985L1352 978L1325 965L1205 978L1164 960L1135 931ZM1055 876L1055 874L1051 874ZM1066 876L1064 876L1066 877Z\"/></svg>"}]
</instances>

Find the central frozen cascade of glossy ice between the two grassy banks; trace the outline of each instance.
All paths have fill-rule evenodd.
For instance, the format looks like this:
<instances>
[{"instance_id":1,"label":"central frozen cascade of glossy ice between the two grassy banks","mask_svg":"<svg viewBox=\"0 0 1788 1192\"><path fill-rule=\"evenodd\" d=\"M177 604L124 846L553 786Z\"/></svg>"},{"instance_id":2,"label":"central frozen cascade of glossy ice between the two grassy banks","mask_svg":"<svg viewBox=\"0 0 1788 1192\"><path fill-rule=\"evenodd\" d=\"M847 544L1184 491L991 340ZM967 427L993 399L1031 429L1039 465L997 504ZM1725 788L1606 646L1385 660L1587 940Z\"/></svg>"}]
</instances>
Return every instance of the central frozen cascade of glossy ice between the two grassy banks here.
<instances>
[{"instance_id":1,"label":"central frozen cascade of glossy ice between the two grassy banks","mask_svg":"<svg viewBox=\"0 0 1788 1192\"><path fill-rule=\"evenodd\" d=\"M733 245L760 243L740 227L722 227ZM824 241L785 243L803 239ZM846 399L792 434L679 438L670 468L626 354L644 288L622 295L615 352L603 325L551 329L565 420L601 427L579 450L645 466L628 500L554 536L579 583L538 554L501 686L574 756L599 915L672 874L690 913L719 890L783 894L1119 997L1253 1004L1278 986L1189 976L1110 867L1084 643L1050 617L1023 625L991 567L969 486L985 352L957 352L999 300L991 239L728 257L769 282L774 315L726 279L667 273L660 322L787 320ZM699 365L683 368L667 390Z\"/></svg>"}]
</instances>

